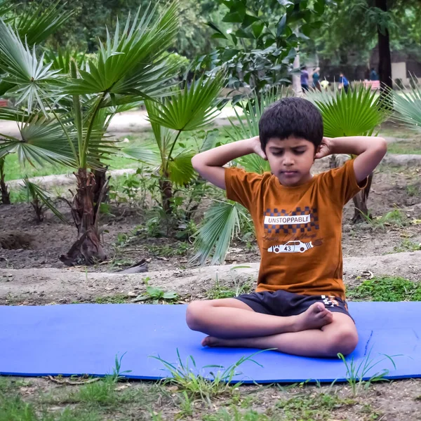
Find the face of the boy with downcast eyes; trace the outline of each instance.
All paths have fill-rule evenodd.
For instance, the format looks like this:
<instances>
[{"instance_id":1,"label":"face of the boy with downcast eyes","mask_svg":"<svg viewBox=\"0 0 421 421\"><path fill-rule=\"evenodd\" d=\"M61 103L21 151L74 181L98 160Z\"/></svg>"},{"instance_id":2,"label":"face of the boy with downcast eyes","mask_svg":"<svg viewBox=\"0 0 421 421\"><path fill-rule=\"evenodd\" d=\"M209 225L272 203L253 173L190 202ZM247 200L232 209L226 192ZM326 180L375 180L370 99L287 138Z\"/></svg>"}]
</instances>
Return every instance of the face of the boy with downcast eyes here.
<instances>
[{"instance_id":1,"label":"face of the boy with downcast eyes","mask_svg":"<svg viewBox=\"0 0 421 421\"><path fill-rule=\"evenodd\" d=\"M281 185L295 187L311 180L315 147L309 140L295 136L283 140L270 138L265 153L272 173Z\"/></svg>"}]
</instances>

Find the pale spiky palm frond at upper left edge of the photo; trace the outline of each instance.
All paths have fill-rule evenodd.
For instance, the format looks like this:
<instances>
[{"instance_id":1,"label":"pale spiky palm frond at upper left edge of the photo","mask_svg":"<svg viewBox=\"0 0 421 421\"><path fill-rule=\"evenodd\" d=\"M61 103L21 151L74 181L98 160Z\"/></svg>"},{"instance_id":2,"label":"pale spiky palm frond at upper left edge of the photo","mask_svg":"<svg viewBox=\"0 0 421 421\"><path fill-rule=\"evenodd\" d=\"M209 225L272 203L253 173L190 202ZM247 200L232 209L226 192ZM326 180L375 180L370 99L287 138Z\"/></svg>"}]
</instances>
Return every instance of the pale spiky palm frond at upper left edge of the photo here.
<instances>
[{"instance_id":1,"label":"pale spiky palm frond at upper left edge of the photo","mask_svg":"<svg viewBox=\"0 0 421 421\"><path fill-rule=\"evenodd\" d=\"M32 51L24 46L18 34L1 19L0 56L0 69L6 74L2 81L11 83L9 91L18 96L18 103L27 102L30 113L34 102L38 102L45 112L43 99L51 91L58 72L51 70L51 63L44 65L44 55L38 59L35 46Z\"/></svg>"}]
</instances>

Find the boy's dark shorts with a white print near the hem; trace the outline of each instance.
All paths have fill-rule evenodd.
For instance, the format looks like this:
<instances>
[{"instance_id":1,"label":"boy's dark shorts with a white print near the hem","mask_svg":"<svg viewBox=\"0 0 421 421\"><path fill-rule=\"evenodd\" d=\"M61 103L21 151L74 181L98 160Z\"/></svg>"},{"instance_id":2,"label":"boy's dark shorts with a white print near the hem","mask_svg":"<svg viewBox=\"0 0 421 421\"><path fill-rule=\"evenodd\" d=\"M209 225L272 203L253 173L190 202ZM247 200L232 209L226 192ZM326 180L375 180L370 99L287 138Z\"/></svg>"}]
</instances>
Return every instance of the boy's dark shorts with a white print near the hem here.
<instances>
[{"instance_id":1,"label":"boy's dark shorts with a white print near the hem","mask_svg":"<svg viewBox=\"0 0 421 421\"><path fill-rule=\"evenodd\" d=\"M352 319L348 312L347 302L332 295L300 295L277 290L243 294L236 299L244 302L257 313L283 317L295 316L305 312L314 302L323 302L330 312L347 314Z\"/></svg>"}]
</instances>

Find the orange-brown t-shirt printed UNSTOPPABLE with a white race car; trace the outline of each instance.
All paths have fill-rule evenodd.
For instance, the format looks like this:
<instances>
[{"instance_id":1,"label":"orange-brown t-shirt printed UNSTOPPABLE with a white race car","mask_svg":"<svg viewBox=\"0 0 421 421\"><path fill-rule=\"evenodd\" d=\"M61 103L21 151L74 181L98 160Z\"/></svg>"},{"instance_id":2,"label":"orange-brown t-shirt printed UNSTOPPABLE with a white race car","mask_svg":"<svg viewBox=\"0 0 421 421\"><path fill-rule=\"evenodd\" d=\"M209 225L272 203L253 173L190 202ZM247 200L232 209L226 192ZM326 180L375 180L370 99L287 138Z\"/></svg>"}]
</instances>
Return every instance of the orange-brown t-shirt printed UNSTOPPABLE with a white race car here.
<instances>
[{"instance_id":1,"label":"orange-brown t-shirt printed UNSTOPPABLE with a white race car","mask_svg":"<svg viewBox=\"0 0 421 421\"><path fill-rule=\"evenodd\" d=\"M297 187L281 185L271 173L226 168L225 185L227 198L253 218L262 256L257 292L282 289L345 299L342 208L363 188L354 160Z\"/></svg>"}]
</instances>

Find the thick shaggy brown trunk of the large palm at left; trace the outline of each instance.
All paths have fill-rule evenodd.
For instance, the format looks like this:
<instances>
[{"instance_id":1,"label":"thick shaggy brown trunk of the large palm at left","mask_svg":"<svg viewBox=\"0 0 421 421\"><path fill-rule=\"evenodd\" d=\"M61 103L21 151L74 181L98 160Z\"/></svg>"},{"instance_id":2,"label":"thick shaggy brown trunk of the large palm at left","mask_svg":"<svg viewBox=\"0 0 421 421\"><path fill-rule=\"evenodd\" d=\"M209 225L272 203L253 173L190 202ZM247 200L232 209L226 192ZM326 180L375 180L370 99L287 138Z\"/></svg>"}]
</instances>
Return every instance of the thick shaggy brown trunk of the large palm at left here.
<instances>
[{"instance_id":1,"label":"thick shaggy brown trunk of the large palm at left","mask_svg":"<svg viewBox=\"0 0 421 421\"><path fill-rule=\"evenodd\" d=\"M98 233L99 212L95 212L93 203L95 176L83 168L79 168L74 175L76 175L77 187L72 201L72 215L78 236L67 254L60 256L60 260L68 266L92 265L94 262L101 262L106 258ZM104 188L106 187L105 185ZM101 199L102 195L100 194L99 203Z\"/></svg>"}]
</instances>

